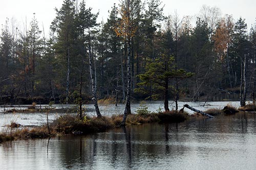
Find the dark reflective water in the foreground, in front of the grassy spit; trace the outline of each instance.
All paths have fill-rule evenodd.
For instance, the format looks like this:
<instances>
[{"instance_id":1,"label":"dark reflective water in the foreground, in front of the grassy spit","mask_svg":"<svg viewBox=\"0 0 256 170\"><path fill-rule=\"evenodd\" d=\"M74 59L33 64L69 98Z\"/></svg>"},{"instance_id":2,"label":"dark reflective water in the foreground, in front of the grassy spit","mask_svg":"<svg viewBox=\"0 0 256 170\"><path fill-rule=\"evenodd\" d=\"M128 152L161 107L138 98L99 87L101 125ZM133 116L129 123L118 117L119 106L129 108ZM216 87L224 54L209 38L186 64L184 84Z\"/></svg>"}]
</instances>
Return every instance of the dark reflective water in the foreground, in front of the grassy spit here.
<instances>
[{"instance_id":1,"label":"dark reflective water in the foreground, in front of the grassy spit","mask_svg":"<svg viewBox=\"0 0 256 170\"><path fill-rule=\"evenodd\" d=\"M256 116L0 144L0 169L256 169Z\"/></svg>"}]
</instances>

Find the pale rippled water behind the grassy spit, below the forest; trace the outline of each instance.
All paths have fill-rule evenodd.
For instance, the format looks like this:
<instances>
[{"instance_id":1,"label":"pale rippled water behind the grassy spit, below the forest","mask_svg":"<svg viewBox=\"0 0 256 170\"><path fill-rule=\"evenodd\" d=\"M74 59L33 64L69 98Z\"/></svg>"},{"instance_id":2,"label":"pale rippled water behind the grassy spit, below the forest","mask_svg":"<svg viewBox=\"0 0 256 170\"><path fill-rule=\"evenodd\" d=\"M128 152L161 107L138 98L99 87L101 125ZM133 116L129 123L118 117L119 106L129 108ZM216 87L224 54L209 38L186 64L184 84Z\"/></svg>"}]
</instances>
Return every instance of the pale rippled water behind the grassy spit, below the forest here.
<instances>
[{"instance_id":1,"label":"pale rippled water behind the grassy spit, below the forest","mask_svg":"<svg viewBox=\"0 0 256 170\"><path fill-rule=\"evenodd\" d=\"M204 102L179 102L179 109L183 107L184 104L188 104L196 109L199 110L207 110L209 108L217 108L222 109L227 104L230 104L234 107L239 107L239 102L207 102L206 105ZM156 112L157 110L161 109L164 110L164 103L157 101L157 102L147 102L145 103L145 106L147 106L149 111ZM48 105L42 105L41 108L49 107ZM71 108L71 107L77 107L76 105L53 105L54 108L60 109L60 108ZM87 115L96 116L96 112L93 105L83 105L83 107L86 109L85 113ZM136 110L141 107L141 104L139 103L133 103L131 105L131 111L132 113L136 113ZM17 124L22 125L23 127L26 126L39 126L46 123L47 115L46 113L3 113L4 110L10 110L10 109L16 109L16 110L22 110L27 109L28 105L14 105L14 106L0 106L0 132L7 132L9 131L8 128L6 128L6 125L10 125L11 122L15 122ZM39 108L39 106L37 106ZM113 114L123 114L125 105L99 105L100 112L103 116L111 116ZM175 109L175 102L170 101L169 102L169 108ZM188 113L194 113L193 111L186 109L185 111ZM53 120L63 114L66 113L49 113L49 119ZM74 113L76 114L76 113Z\"/></svg>"}]
</instances>

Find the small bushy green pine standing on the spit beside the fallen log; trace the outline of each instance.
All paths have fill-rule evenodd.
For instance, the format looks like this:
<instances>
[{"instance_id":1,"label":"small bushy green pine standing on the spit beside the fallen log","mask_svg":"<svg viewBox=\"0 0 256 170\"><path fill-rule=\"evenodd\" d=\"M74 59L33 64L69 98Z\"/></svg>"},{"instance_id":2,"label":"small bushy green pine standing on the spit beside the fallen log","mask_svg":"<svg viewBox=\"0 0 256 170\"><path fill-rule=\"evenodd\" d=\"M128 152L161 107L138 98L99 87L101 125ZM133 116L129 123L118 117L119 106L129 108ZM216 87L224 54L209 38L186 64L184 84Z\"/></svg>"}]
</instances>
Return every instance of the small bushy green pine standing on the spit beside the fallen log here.
<instances>
[{"instance_id":1,"label":"small bushy green pine standing on the spit beside the fallen log","mask_svg":"<svg viewBox=\"0 0 256 170\"><path fill-rule=\"evenodd\" d=\"M138 85L142 86L142 88L137 89L137 91L146 93L148 89L145 87L150 86L154 90L151 94L153 99L159 99L159 96L163 93L164 110L169 111L168 96L170 80L175 79L178 81L178 79L187 79L193 76L193 74L186 72L184 69L177 69L175 58L173 57L173 49L171 48L174 46L174 41L170 29L167 29L160 37L161 40L158 42L161 45L160 55L155 60L147 63L145 74L139 75L142 82L138 83ZM152 92L152 90L149 92Z\"/></svg>"}]
</instances>

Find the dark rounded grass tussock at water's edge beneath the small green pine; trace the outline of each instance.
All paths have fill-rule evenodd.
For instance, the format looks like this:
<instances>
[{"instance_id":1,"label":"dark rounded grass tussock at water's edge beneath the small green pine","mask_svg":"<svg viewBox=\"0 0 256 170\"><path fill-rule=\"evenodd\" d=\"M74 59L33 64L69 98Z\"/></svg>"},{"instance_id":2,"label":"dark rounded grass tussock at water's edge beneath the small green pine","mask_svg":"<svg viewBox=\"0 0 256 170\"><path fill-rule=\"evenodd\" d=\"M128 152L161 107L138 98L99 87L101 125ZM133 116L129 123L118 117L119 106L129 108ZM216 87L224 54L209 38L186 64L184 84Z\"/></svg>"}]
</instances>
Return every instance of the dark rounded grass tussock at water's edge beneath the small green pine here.
<instances>
[{"instance_id":1,"label":"dark rounded grass tussock at water's edge beneath the small green pine","mask_svg":"<svg viewBox=\"0 0 256 170\"><path fill-rule=\"evenodd\" d=\"M158 113L157 116L163 123L181 123L187 119L187 113L179 113L175 110Z\"/></svg>"}]
</instances>

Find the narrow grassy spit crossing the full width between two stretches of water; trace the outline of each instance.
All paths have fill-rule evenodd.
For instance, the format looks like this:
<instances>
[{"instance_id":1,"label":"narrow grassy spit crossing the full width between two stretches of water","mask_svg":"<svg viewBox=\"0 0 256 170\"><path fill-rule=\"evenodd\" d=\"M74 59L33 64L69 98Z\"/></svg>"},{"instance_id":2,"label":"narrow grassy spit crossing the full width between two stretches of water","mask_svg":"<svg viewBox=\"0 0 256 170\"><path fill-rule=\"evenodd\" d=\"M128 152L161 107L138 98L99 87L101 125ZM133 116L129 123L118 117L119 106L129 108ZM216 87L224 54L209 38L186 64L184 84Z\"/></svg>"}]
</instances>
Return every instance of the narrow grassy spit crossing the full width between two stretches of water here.
<instances>
[{"instance_id":1,"label":"narrow grassy spit crossing the full width between two stretches of water","mask_svg":"<svg viewBox=\"0 0 256 170\"><path fill-rule=\"evenodd\" d=\"M255 105L253 105L255 106ZM247 112L246 108L252 109L252 105L247 105L246 108L234 108L229 106L229 110L225 111L225 109L208 109L205 111L206 113L218 116L221 114L231 115L236 114L239 111ZM60 109L62 110L62 109ZM68 110L68 109L67 109ZM256 106L254 107L256 111ZM249 112L249 113L255 113ZM32 111L32 110L29 110ZM51 111L51 112L50 112ZM48 113L55 113L56 109L47 110ZM42 112L46 113L47 112ZM31 112L33 113L33 112ZM71 113L71 112L69 112ZM18 139L40 139L40 138L48 138L54 136L68 135L68 134L89 134L89 133L98 133L102 131L106 131L113 128L119 128L122 122L123 115L112 115L112 116L88 116L85 115L82 119L80 119L76 114L63 114L60 117L52 120L49 124L44 124L36 127L22 127L18 129L19 124L14 123L13 125L8 125L10 128L10 133L2 132L0 133L0 143L10 140L18 140ZM189 115L188 113L177 113L175 111L170 111L168 113L145 113L142 112L140 114L131 114L127 116L126 125L141 125L141 124L152 124L152 123L181 123L186 119L191 117L201 117L206 118L205 116L199 114Z\"/></svg>"}]
</instances>

